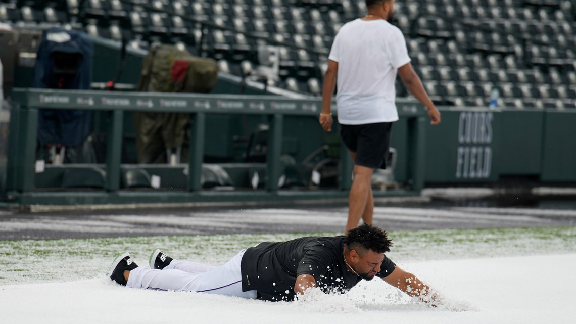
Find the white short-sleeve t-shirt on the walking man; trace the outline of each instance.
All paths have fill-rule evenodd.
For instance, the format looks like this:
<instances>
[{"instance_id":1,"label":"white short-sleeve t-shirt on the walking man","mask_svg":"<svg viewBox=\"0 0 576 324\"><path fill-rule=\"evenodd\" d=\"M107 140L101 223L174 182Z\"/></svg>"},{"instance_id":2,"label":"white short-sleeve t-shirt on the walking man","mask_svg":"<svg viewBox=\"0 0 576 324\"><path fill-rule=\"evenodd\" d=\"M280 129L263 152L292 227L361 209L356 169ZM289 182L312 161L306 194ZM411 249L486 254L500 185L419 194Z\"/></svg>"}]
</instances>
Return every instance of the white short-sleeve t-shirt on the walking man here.
<instances>
[{"instance_id":1,"label":"white short-sleeve t-shirt on the walking man","mask_svg":"<svg viewBox=\"0 0 576 324\"><path fill-rule=\"evenodd\" d=\"M395 122L396 73L409 63L406 39L383 19L347 22L334 38L328 59L338 62L338 122Z\"/></svg>"}]
</instances>

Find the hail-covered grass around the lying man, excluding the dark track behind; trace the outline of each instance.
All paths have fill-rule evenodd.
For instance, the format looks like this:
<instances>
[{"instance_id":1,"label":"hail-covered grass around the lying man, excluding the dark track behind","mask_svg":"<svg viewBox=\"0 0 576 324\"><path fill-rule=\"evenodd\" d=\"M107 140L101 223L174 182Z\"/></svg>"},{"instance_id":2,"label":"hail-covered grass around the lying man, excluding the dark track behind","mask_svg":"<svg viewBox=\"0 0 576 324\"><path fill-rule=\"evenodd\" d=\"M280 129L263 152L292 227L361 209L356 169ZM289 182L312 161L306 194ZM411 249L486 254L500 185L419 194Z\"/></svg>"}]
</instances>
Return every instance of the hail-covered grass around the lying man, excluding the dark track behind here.
<instances>
[{"instance_id":1,"label":"hail-covered grass around the lying man, excluding the dark track behind","mask_svg":"<svg viewBox=\"0 0 576 324\"><path fill-rule=\"evenodd\" d=\"M315 233L338 235L338 233ZM310 235L310 234L306 234ZM391 231L391 257L437 289L430 308L381 280L345 295L310 292L293 303L121 287L105 277L130 251L156 247L219 265L241 248L304 234L155 236L0 241L0 318L6 323L572 323L576 228Z\"/></svg>"}]
</instances>

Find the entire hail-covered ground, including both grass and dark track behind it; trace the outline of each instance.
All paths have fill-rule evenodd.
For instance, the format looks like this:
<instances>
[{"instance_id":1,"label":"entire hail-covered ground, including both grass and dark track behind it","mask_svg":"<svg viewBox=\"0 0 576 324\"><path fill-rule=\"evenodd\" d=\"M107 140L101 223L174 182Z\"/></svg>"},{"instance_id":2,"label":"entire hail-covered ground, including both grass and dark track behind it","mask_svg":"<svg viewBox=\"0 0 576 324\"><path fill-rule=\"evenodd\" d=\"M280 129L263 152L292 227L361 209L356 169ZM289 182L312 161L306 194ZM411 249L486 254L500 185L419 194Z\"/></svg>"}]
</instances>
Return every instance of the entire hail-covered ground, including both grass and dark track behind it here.
<instances>
[{"instance_id":1,"label":"entire hail-covered ground, including both grass and dark track behind it","mask_svg":"<svg viewBox=\"0 0 576 324\"><path fill-rule=\"evenodd\" d=\"M442 296L420 304L381 280L346 295L269 303L130 289L105 272L157 247L219 265L262 241L339 235L346 206L204 208L0 215L0 318L6 323L573 323L576 212L560 208L389 204L374 224L388 257Z\"/></svg>"}]
</instances>

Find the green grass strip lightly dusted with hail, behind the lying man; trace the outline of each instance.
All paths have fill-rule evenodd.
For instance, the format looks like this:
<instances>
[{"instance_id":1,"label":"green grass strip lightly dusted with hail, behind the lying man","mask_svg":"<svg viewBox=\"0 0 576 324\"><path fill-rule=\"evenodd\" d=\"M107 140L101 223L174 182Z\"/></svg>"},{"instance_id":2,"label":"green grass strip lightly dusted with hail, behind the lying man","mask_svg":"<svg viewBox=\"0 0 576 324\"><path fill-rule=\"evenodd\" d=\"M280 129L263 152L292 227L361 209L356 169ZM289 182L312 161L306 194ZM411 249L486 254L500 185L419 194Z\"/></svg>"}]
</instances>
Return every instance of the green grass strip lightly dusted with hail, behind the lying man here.
<instances>
[{"instance_id":1,"label":"green grass strip lightly dusted with hail, behind the lying man","mask_svg":"<svg viewBox=\"0 0 576 324\"><path fill-rule=\"evenodd\" d=\"M0 241L0 285L103 277L116 254L130 251L147 265L155 248L179 259L212 265L263 241L339 233L146 236L100 239ZM576 252L576 227L391 231L396 263L434 259L507 257Z\"/></svg>"}]
</instances>

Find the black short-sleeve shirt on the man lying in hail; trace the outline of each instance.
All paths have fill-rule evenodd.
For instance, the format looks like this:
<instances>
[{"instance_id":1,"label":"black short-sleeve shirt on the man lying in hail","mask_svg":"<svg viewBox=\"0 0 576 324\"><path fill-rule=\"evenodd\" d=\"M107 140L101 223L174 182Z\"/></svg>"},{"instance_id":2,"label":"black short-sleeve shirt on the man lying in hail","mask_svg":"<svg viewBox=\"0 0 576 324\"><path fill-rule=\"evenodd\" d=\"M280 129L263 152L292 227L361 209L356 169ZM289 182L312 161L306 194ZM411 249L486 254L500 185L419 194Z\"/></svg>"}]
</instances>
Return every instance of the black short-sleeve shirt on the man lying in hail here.
<instances>
[{"instance_id":1,"label":"black short-sleeve shirt on the man lying in hail","mask_svg":"<svg viewBox=\"0 0 576 324\"><path fill-rule=\"evenodd\" d=\"M310 274L325 293L345 293L360 280L346 269L344 236L308 236L287 242L263 242L248 248L242 256L242 290L255 290L260 299L291 301L296 277ZM381 272L384 278L396 265L386 256Z\"/></svg>"}]
</instances>

